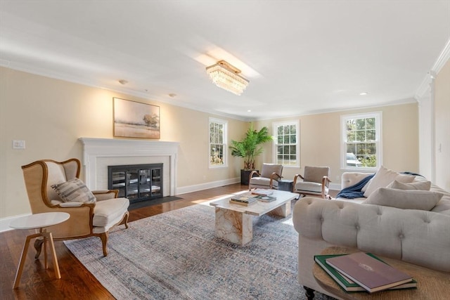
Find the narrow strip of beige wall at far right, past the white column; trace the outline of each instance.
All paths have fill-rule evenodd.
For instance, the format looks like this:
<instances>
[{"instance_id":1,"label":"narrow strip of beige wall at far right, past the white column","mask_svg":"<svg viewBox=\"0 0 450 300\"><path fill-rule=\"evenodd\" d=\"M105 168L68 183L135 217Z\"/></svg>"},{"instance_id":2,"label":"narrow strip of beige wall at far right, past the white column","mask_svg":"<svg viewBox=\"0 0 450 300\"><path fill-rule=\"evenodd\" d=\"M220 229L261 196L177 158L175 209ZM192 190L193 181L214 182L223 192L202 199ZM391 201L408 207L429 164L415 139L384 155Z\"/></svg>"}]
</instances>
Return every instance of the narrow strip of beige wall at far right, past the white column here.
<instances>
[{"instance_id":1,"label":"narrow strip of beige wall at far right, past the white column","mask_svg":"<svg viewBox=\"0 0 450 300\"><path fill-rule=\"evenodd\" d=\"M435 79L436 184L450 190L450 60Z\"/></svg>"}]
</instances>

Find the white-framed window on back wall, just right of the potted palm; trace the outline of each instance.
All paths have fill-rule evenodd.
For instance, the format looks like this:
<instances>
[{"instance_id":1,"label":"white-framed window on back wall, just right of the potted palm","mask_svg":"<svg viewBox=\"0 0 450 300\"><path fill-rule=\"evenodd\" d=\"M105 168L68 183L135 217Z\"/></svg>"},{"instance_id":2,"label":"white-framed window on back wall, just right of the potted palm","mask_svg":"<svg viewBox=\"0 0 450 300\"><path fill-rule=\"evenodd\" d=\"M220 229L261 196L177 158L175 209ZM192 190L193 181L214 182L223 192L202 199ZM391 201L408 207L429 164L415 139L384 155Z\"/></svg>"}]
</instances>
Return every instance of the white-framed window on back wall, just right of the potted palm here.
<instances>
[{"instance_id":1,"label":"white-framed window on back wall, just right of the potted palm","mask_svg":"<svg viewBox=\"0 0 450 300\"><path fill-rule=\"evenodd\" d=\"M274 122L274 162L283 167L300 167L300 122Z\"/></svg>"}]
</instances>

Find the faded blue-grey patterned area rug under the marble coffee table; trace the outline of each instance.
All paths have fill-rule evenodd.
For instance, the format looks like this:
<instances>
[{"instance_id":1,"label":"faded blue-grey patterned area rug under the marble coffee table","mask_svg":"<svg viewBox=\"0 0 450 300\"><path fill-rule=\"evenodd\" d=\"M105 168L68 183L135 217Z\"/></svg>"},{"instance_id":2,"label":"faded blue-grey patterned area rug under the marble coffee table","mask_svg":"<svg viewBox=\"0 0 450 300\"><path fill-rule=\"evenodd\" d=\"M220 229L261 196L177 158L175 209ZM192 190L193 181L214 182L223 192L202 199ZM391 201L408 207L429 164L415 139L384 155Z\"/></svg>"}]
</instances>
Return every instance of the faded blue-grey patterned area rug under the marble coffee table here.
<instances>
[{"instance_id":1,"label":"faded blue-grey patterned area rug under the marble coffee table","mask_svg":"<svg viewBox=\"0 0 450 300\"><path fill-rule=\"evenodd\" d=\"M214 217L196 204L120 226L107 257L98 237L65 244L116 299L306 299L291 217L254 217L245 246L215 237Z\"/></svg>"}]
</instances>

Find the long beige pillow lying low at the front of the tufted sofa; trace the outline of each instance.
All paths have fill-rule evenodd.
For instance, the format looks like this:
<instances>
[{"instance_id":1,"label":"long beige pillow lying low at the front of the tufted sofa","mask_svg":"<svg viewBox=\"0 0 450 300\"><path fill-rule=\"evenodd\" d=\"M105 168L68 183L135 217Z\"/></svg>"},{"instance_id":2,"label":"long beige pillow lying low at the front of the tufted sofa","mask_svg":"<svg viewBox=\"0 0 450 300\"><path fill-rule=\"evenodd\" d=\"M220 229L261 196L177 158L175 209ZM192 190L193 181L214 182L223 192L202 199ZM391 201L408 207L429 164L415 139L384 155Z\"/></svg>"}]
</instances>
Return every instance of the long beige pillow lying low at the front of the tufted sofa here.
<instances>
[{"instance_id":1,"label":"long beige pillow lying low at the front of the tufted sofa","mask_svg":"<svg viewBox=\"0 0 450 300\"><path fill-rule=\"evenodd\" d=\"M376 204L399 209L419 209L430 211L442 198L441 193L428 190L397 190L378 188L363 204Z\"/></svg>"}]
</instances>

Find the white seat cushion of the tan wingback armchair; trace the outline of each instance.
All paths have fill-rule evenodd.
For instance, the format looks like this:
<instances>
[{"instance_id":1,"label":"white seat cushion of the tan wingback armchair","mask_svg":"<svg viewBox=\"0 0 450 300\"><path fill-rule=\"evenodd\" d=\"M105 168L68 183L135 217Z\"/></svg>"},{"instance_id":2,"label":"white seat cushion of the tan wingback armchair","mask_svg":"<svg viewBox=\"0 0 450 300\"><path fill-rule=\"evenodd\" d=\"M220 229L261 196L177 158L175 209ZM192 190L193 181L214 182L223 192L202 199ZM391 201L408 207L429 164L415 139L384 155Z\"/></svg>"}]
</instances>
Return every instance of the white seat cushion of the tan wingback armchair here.
<instances>
[{"instance_id":1,"label":"white seat cushion of the tan wingback armchair","mask_svg":"<svg viewBox=\"0 0 450 300\"><path fill-rule=\"evenodd\" d=\"M113 198L96 202L93 225L106 227L114 225L117 219L124 216L129 207L127 198Z\"/></svg>"}]
</instances>

